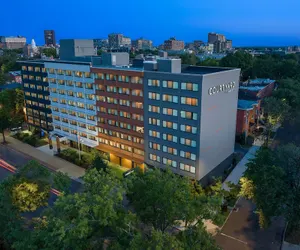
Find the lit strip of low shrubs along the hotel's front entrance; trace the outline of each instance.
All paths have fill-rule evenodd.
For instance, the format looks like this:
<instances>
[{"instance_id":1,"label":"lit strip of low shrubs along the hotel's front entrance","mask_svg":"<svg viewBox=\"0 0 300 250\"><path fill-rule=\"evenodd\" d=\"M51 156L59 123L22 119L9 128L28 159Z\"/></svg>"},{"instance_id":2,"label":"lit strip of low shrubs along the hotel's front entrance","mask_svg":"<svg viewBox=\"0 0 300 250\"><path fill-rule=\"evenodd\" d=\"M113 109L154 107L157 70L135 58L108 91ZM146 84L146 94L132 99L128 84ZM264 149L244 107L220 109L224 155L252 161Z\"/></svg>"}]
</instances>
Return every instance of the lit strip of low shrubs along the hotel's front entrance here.
<instances>
[{"instance_id":1,"label":"lit strip of low shrubs along the hotel's front entrance","mask_svg":"<svg viewBox=\"0 0 300 250\"><path fill-rule=\"evenodd\" d=\"M80 152L80 155L79 155L78 150L68 148L68 149L62 150L56 156L66 160L66 161L72 162L77 166L88 169L93 164L93 161L95 159L96 154L100 155L103 162L107 164L107 166L111 169L112 172L115 173L115 175L119 179L122 179L123 178L123 173L128 171L127 168L124 168L124 167L122 167L118 164L115 164L115 163L112 163L112 162L108 161L107 155L101 154L97 150L93 150L91 153Z\"/></svg>"}]
</instances>

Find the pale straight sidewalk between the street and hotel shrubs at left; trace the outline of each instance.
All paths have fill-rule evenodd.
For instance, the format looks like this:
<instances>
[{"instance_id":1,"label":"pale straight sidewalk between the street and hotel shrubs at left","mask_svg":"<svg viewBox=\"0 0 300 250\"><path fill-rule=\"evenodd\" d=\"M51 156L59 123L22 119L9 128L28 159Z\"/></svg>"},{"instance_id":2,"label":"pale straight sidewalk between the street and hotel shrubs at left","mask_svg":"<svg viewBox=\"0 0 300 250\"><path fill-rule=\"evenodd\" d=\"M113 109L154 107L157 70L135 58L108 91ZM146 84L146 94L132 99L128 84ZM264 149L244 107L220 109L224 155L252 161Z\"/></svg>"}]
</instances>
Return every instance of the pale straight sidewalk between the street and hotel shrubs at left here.
<instances>
[{"instance_id":1,"label":"pale straight sidewalk between the street and hotel shrubs at left","mask_svg":"<svg viewBox=\"0 0 300 250\"><path fill-rule=\"evenodd\" d=\"M41 150L34 148L28 144L25 144L13 137L6 136L6 141L8 142L7 147L10 147L25 155L31 156L32 158L36 159L37 161L54 171L67 173L73 179L77 179L83 176L85 173L84 168L78 167L56 156L46 154Z\"/></svg>"}]
</instances>

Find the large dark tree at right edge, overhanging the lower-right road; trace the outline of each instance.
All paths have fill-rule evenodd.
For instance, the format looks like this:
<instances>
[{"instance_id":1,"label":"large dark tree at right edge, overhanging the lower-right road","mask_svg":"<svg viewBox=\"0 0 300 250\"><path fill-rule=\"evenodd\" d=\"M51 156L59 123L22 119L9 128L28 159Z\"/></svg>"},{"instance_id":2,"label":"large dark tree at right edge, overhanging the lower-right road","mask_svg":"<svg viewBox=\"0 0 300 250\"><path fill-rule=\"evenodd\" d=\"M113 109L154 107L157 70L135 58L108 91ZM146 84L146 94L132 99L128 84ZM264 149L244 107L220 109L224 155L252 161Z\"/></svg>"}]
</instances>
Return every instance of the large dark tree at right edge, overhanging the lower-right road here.
<instances>
[{"instance_id":1,"label":"large dark tree at right edge, overhanging the lower-right road","mask_svg":"<svg viewBox=\"0 0 300 250\"><path fill-rule=\"evenodd\" d=\"M245 177L251 181L251 195L256 203L261 226L272 216L284 216L292 227L300 227L300 148L294 144L259 150L248 163Z\"/></svg>"}]
</instances>

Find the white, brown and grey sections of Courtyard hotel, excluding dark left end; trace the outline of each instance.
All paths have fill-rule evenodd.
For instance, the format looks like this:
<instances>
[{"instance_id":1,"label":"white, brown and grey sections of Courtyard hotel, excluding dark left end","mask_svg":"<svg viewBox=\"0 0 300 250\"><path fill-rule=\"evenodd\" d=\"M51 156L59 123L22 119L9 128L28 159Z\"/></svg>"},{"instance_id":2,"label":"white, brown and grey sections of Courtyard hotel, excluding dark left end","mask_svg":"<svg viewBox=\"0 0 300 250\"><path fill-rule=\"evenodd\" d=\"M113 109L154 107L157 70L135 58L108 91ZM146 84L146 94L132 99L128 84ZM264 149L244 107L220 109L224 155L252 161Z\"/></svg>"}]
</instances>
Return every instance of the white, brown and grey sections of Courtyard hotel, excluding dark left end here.
<instances>
[{"instance_id":1,"label":"white, brown and grey sections of Courtyard hotel, excluding dark left end","mask_svg":"<svg viewBox=\"0 0 300 250\"><path fill-rule=\"evenodd\" d=\"M183 66L168 58L146 58L141 68L44 64L53 133L71 146L98 149L128 168L169 167L195 180L230 165L239 69Z\"/></svg>"}]
</instances>

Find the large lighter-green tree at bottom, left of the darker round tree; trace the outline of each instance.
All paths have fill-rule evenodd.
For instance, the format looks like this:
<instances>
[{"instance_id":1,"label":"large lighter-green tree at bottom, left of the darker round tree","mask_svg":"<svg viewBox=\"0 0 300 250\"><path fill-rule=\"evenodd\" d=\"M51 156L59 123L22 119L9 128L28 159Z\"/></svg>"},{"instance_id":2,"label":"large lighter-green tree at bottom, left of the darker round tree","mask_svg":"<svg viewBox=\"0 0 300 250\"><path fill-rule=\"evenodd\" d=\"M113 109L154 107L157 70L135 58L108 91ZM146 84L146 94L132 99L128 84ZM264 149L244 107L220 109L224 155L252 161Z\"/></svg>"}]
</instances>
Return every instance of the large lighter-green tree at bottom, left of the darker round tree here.
<instances>
[{"instance_id":1,"label":"large lighter-green tree at bottom, left of the darker round tree","mask_svg":"<svg viewBox=\"0 0 300 250\"><path fill-rule=\"evenodd\" d=\"M114 235L123 212L121 183L103 171L91 169L84 176L84 192L58 198L46 213L42 228L44 249L97 249Z\"/></svg>"}]
</instances>

